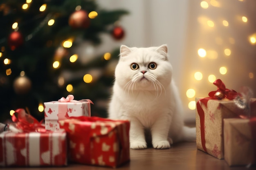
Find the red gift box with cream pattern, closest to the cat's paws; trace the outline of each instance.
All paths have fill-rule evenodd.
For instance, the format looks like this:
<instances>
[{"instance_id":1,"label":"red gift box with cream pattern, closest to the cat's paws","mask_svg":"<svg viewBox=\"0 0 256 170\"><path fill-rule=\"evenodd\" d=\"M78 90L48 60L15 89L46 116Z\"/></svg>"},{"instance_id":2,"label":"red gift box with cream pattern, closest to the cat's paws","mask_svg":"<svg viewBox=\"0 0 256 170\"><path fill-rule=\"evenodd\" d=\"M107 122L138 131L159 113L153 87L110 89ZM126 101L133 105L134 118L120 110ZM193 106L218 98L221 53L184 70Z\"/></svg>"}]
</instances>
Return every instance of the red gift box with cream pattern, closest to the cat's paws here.
<instances>
[{"instance_id":1,"label":"red gift box with cream pattern, closest to the cat's paws","mask_svg":"<svg viewBox=\"0 0 256 170\"><path fill-rule=\"evenodd\" d=\"M117 167L130 160L129 121L82 116L59 122L67 131L70 161Z\"/></svg>"}]
</instances>

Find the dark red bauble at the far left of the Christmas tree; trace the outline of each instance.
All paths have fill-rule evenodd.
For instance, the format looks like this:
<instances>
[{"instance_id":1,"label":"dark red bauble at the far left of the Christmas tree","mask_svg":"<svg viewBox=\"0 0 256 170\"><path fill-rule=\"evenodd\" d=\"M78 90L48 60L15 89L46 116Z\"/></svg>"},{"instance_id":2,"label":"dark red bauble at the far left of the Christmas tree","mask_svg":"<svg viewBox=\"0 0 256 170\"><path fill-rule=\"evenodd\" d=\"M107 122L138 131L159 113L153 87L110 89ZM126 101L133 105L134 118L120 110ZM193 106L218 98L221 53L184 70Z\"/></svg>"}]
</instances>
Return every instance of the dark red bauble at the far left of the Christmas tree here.
<instances>
[{"instance_id":1,"label":"dark red bauble at the far left of the Christmas tree","mask_svg":"<svg viewBox=\"0 0 256 170\"><path fill-rule=\"evenodd\" d=\"M11 50L15 50L24 43L23 36L20 32L14 31L9 35L8 45Z\"/></svg>"}]
</instances>

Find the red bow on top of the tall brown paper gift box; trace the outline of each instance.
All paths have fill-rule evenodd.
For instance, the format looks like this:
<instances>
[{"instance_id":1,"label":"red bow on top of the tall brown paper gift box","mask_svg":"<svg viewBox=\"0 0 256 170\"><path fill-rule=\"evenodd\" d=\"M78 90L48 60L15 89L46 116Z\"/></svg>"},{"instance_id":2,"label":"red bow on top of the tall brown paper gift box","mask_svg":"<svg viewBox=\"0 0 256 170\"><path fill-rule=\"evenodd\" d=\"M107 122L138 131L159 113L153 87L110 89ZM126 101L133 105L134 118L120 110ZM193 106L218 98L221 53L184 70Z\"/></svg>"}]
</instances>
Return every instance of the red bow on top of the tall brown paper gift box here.
<instances>
[{"instance_id":1,"label":"red bow on top of the tall brown paper gift box","mask_svg":"<svg viewBox=\"0 0 256 170\"><path fill-rule=\"evenodd\" d=\"M216 79L216 81L213 82L213 84L217 86L217 90L211 91L208 95L210 97L213 97L214 99L218 99L215 96L216 92L222 93L224 95L223 98L226 98L229 100L235 99L235 97L238 95L236 91L226 88L225 84L221 81L221 79Z\"/></svg>"}]
</instances>

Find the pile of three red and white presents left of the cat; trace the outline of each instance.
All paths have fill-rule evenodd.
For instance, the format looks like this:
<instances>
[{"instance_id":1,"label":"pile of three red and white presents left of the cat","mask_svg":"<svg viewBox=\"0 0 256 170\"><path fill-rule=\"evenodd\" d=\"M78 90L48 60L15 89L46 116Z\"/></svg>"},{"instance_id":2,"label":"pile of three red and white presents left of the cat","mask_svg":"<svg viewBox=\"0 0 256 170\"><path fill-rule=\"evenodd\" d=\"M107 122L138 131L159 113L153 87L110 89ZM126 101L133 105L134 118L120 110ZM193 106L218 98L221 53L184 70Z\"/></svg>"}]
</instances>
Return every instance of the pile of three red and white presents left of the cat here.
<instances>
[{"instance_id":1,"label":"pile of three red and white presents left of the cat","mask_svg":"<svg viewBox=\"0 0 256 170\"><path fill-rule=\"evenodd\" d=\"M73 95L45 102L45 124L16 110L15 123L0 133L0 167L81 163L115 168L129 161L130 122L91 117L90 104Z\"/></svg>"}]
</instances>

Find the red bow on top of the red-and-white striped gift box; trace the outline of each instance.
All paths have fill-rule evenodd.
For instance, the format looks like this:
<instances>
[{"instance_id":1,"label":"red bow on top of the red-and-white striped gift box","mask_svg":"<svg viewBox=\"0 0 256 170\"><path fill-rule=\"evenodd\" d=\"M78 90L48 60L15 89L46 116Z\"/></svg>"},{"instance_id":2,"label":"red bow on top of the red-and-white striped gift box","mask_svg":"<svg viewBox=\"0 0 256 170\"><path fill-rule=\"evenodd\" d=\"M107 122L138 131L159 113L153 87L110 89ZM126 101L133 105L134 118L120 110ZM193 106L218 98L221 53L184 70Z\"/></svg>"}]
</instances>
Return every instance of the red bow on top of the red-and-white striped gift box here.
<instances>
[{"instance_id":1,"label":"red bow on top of the red-and-white striped gift box","mask_svg":"<svg viewBox=\"0 0 256 170\"><path fill-rule=\"evenodd\" d=\"M15 113L17 117L15 116ZM45 126L42 125L42 121L38 121L33 116L28 115L24 109L19 108L15 110L15 113L11 116L13 122L16 122L16 127L23 132L46 132Z\"/></svg>"}]
</instances>

